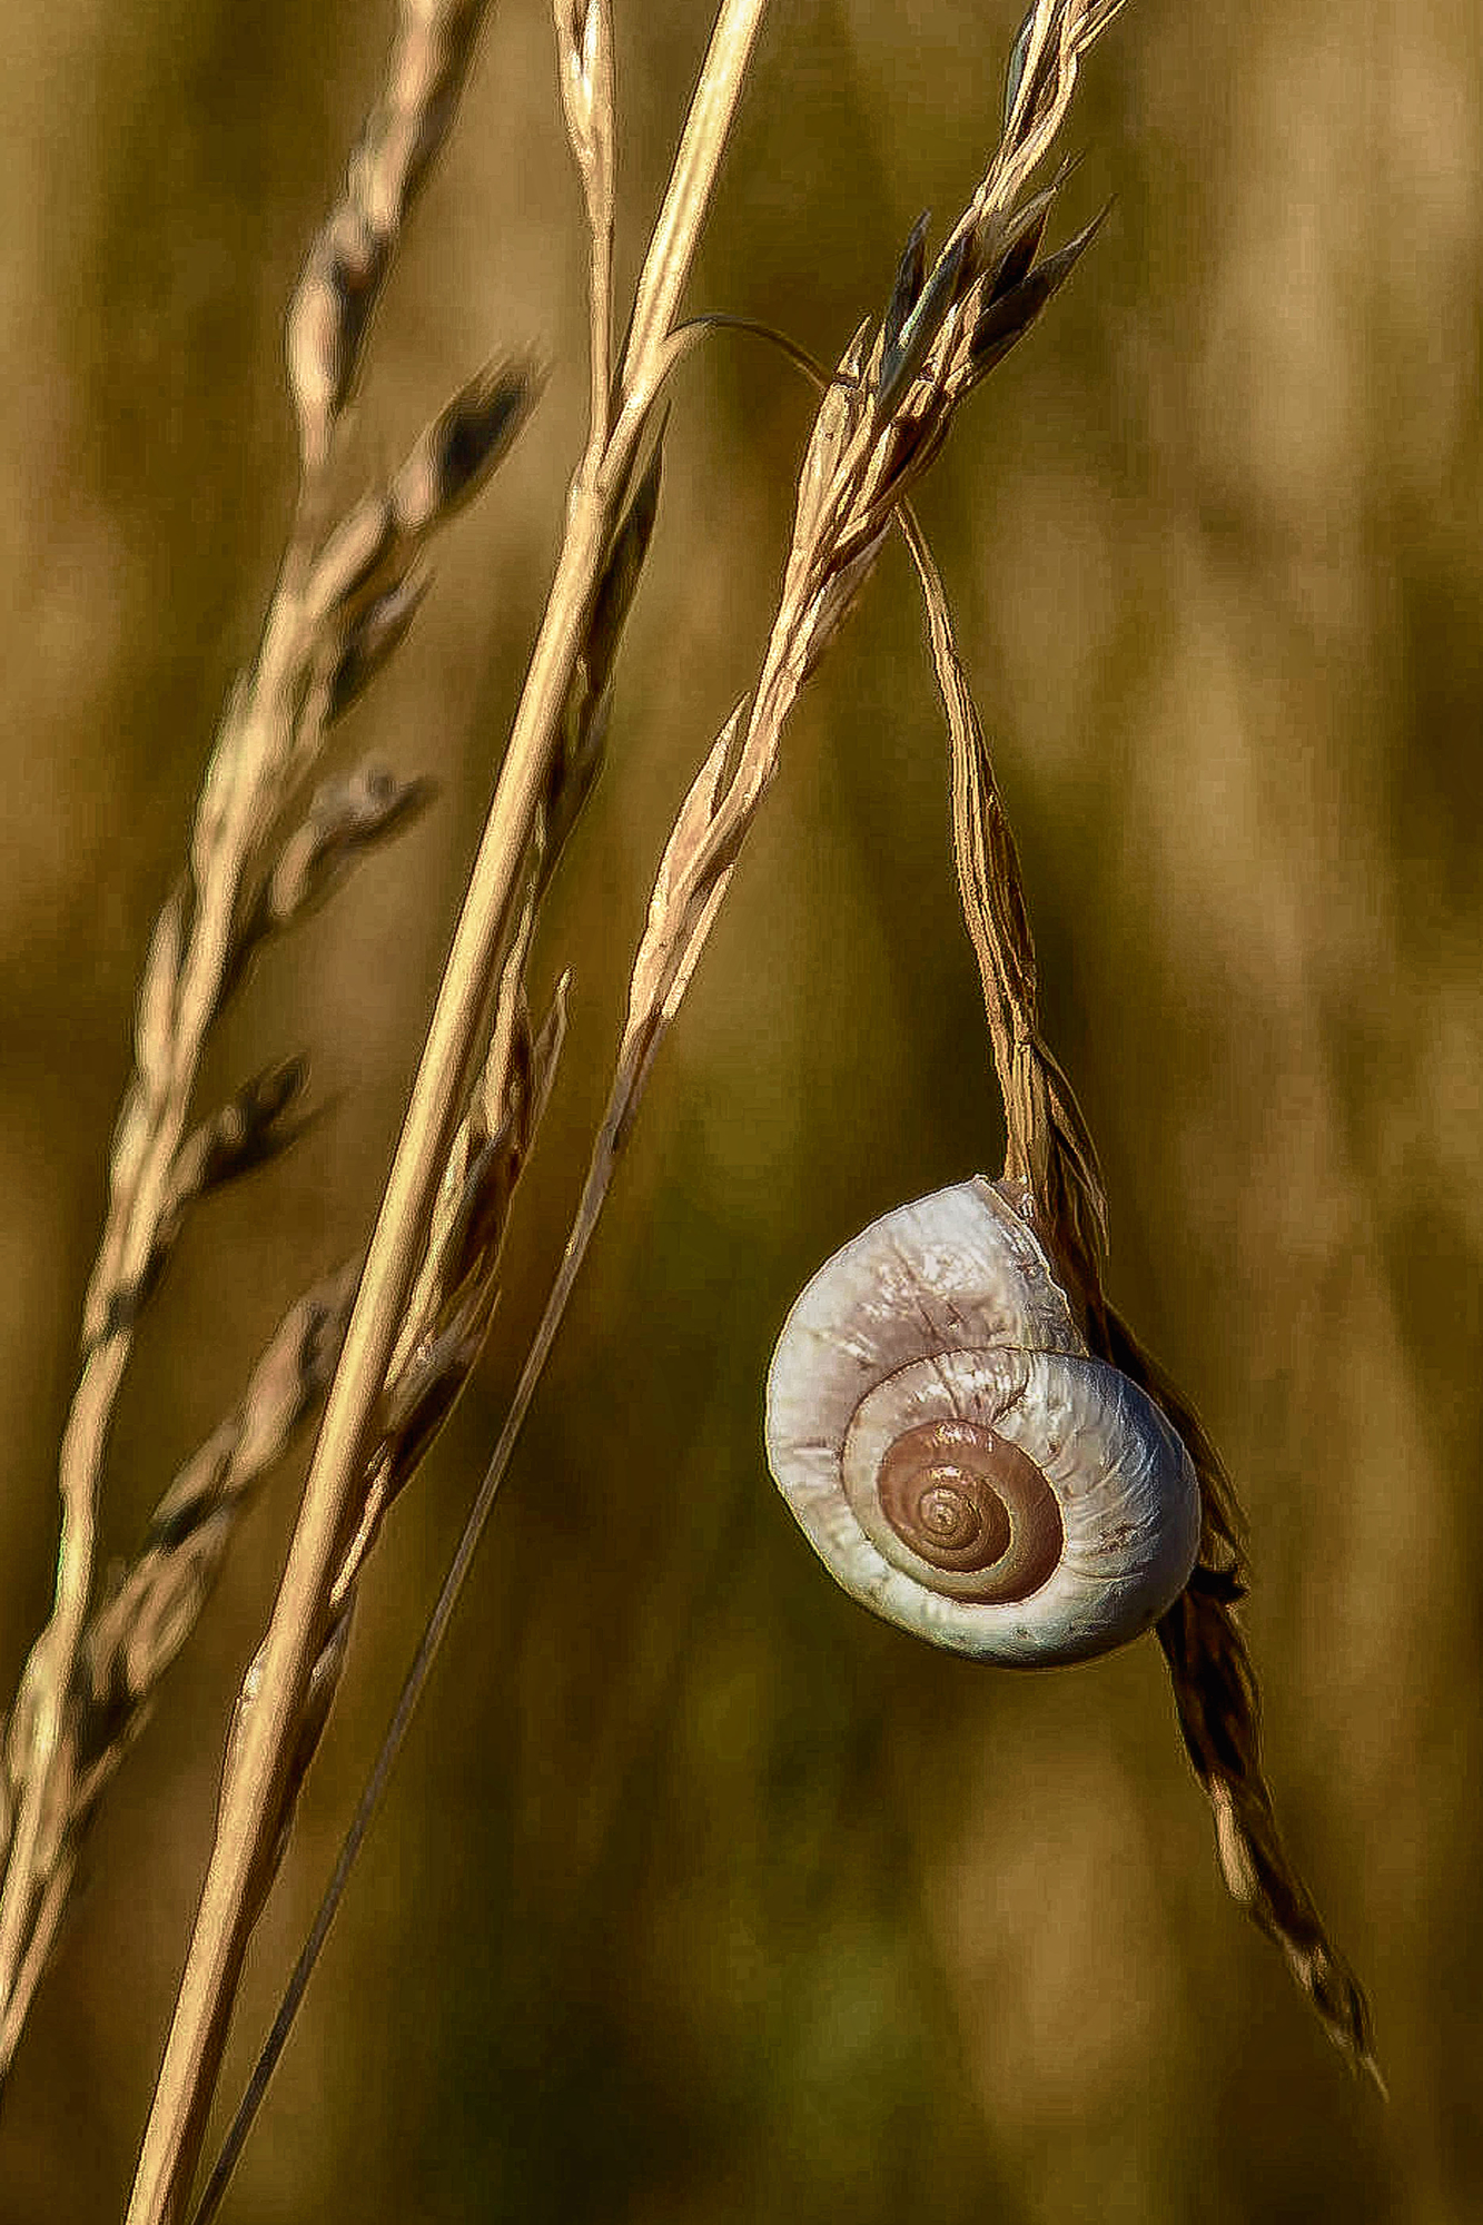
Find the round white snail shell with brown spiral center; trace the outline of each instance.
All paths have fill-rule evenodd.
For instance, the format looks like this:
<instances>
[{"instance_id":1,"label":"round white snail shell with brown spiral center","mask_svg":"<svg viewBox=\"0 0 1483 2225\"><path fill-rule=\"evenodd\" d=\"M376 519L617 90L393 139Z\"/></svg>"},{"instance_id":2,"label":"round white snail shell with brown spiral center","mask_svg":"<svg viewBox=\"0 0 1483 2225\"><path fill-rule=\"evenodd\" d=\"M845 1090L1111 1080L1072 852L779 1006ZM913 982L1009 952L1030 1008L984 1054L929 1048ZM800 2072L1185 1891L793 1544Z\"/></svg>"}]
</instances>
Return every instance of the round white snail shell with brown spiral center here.
<instances>
[{"instance_id":1,"label":"round white snail shell with brown spiral center","mask_svg":"<svg viewBox=\"0 0 1483 2225\"><path fill-rule=\"evenodd\" d=\"M1015 1186L886 1213L819 1268L768 1373L773 1475L862 1606L1011 1667L1084 1660L1173 1604L1200 1489L1087 1353Z\"/></svg>"}]
</instances>

